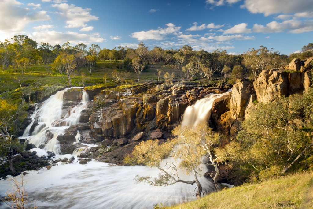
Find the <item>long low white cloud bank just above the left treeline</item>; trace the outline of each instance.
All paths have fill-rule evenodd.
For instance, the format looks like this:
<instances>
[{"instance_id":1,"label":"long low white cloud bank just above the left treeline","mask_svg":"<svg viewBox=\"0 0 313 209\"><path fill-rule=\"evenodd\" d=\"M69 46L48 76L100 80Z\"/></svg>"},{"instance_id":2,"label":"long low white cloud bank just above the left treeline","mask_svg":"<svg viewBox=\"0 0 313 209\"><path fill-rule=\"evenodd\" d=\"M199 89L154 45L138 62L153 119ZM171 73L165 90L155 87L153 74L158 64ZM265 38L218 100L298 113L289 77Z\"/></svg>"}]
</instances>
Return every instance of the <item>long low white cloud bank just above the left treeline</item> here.
<instances>
[{"instance_id":1,"label":"long low white cloud bank just above the left treeline","mask_svg":"<svg viewBox=\"0 0 313 209\"><path fill-rule=\"evenodd\" d=\"M85 43L90 44L94 42L103 42L105 39L101 38L98 33L95 34L80 34L71 31L65 33L57 32L54 30L45 30L33 32L29 38L36 40L38 43L41 41L48 42L51 45L64 44L69 41L71 44Z\"/></svg>"}]
</instances>

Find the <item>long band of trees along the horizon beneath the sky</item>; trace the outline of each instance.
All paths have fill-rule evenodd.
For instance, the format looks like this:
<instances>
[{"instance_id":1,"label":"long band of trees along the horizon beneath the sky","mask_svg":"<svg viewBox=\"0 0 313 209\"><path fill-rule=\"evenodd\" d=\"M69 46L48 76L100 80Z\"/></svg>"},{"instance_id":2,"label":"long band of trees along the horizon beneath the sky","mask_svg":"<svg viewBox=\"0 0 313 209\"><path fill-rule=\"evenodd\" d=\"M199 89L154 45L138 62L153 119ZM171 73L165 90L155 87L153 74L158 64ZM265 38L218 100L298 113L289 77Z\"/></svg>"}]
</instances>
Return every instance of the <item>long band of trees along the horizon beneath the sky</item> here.
<instances>
[{"instance_id":1,"label":"long band of trees along the horizon beneath the sky","mask_svg":"<svg viewBox=\"0 0 313 209\"><path fill-rule=\"evenodd\" d=\"M91 74L97 60L110 60L110 65L115 64L118 69L134 71L138 76L149 64L168 65L180 71L181 77L188 80L199 77L201 80L212 76L221 79L230 78L234 83L243 76L256 76L260 71L276 68L288 63L294 58L305 59L313 55L313 44L303 46L301 53L280 55L279 51L260 46L259 49L248 49L241 55L230 55L226 50L217 49L213 52L204 50L194 51L191 46L184 45L177 50L164 50L155 46L150 49L142 42L137 49L119 46L112 50L101 49L98 44L71 46L69 42L62 46L49 43L38 43L26 35L16 35L0 42L0 61L3 71L9 65L18 72L25 74L26 68L32 70L32 65L53 64L53 70L71 85L70 77L73 71L85 66ZM119 60L122 61L119 64ZM156 71L157 74L157 71Z\"/></svg>"}]
</instances>

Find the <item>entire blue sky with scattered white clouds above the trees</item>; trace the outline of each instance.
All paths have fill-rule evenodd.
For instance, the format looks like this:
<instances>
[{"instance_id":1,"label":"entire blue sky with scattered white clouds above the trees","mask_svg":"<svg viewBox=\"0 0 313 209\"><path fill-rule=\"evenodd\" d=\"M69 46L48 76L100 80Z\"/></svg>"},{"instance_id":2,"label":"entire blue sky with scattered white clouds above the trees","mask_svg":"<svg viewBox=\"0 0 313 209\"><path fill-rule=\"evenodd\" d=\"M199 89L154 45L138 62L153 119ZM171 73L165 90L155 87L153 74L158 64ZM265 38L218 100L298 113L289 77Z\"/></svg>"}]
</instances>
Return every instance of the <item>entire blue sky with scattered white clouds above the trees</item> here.
<instances>
[{"instance_id":1,"label":"entire blue sky with scattered white clouds above the trees","mask_svg":"<svg viewBox=\"0 0 313 209\"><path fill-rule=\"evenodd\" d=\"M0 41L17 34L38 43L150 49L267 48L289 54L313 42L312 0L0 0Z\"/></svg>"}]
</instances>

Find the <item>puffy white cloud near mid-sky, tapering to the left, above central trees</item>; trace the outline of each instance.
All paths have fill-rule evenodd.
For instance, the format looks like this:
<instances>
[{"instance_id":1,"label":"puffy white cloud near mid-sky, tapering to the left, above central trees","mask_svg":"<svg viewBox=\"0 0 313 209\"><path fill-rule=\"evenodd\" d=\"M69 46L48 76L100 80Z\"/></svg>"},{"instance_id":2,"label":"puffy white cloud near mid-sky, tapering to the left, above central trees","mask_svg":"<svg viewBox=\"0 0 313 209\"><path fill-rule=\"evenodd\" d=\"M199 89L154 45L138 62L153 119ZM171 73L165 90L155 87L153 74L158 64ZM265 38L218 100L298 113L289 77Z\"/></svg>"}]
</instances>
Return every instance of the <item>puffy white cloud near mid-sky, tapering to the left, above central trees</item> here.
<instances>
[{"instance_id":1,"label":"puffy white cloud near mid-sky, tapering to the left, above central trees","mask_svg":"<svg viewBox=\"0 0 313 209\"><path fill-rule=\"evenodd\" d=\"M166 24L167 28L157 29L157 30L148 30L148 31L140 31L136 33L132 33L131 37L136 38L137 40L162 40L168 34L179 34L179 30L181 27L176 27L172 23Z\"/></svg>"}]
</instances>

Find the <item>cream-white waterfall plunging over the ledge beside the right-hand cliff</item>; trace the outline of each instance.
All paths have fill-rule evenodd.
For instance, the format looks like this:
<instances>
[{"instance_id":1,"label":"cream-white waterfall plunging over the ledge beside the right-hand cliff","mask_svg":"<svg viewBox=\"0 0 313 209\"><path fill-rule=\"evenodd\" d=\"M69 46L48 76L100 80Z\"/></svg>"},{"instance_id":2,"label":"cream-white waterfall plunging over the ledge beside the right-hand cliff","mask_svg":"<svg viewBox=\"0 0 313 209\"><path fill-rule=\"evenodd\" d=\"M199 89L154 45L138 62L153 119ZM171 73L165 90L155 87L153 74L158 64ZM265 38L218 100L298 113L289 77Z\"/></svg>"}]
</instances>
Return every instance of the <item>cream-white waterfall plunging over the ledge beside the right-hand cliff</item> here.
<instances>
[{"instance_id":1,"label":"cream-white waterfall plunging over the ledge beside the right-hand cliff","mask_svg":"<svg viewBox=\"0 0 313 209\"><path fill-rule=\"evenodd\" d=\"M188 125L195 126L199 123L208 122L211 116L214 100L228 94L228 92L223 94L209 94L193 105L187 107L182 118L182 127Z\"/></svg>"}]
</instances>

